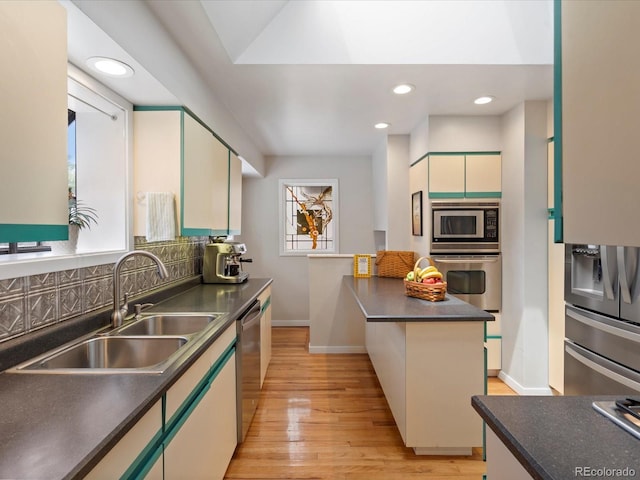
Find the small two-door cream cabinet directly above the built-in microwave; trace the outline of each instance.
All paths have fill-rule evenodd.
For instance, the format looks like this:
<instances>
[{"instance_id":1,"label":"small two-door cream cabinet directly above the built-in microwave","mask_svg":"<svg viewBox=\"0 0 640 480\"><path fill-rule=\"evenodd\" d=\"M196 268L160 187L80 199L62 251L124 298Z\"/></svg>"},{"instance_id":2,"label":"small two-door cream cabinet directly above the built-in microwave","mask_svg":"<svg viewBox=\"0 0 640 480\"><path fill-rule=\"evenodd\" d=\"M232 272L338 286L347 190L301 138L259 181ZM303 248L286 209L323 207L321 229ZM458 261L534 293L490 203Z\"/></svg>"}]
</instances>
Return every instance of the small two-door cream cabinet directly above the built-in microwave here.
<instances>
[{"instance_id":1,"label":"small two-door cream cabinet directly above the built-in microwave","mask_svg":"<svg viewBox=\"0 0 640 480\"><path fill-rule=\"evenodd\" d=\"M430 153L429 198L498 198L499 153Z\"/></svg>"}]
</instances>

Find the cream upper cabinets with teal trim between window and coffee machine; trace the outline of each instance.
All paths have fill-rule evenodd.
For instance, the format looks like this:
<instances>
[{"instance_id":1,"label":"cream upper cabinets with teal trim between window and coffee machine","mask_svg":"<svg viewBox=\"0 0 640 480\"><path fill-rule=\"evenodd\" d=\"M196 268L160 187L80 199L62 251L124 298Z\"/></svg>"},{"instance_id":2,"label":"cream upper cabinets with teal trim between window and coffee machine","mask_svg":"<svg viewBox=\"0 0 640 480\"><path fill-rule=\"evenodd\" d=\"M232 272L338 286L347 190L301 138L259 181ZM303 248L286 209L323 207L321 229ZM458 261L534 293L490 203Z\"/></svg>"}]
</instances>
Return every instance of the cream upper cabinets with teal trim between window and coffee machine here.
<instances>
[{"instance_id":1,"label":"cream upper cabinets with teal trim between window and coffee machine","mask_svg":"<svg viewBox=\"0 0 640 480\"><path fill-rule=\"evenodd\" d=\"M146 233L147 192L174 194L182 236L239 233L241 176L240 159L184 108L134 112L135 235Z\"/></svg>"}]
</instances>

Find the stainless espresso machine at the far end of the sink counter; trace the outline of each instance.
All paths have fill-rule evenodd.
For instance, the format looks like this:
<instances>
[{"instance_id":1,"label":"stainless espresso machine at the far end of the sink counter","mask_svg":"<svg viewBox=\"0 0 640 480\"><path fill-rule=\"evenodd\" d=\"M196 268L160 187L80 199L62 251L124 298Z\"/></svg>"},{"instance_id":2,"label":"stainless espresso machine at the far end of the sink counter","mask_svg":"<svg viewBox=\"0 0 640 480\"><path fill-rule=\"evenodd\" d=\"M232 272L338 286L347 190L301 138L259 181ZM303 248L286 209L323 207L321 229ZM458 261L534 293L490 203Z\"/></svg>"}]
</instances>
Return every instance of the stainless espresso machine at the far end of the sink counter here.
<instances>
[{"instance_id":1,"label":"stainless espresso machine at the far end of the sink counter","mask_svg":"<svg viewBox=\"0 0 640 480\"><path fill-rule=\"evenodd\" d=\"M241 258L247 253L244 243L213 242L205 246L202 277L204 283L242 283L249 274L242 271L243 262L250 258Z\"/></svg>"}]
</instances>

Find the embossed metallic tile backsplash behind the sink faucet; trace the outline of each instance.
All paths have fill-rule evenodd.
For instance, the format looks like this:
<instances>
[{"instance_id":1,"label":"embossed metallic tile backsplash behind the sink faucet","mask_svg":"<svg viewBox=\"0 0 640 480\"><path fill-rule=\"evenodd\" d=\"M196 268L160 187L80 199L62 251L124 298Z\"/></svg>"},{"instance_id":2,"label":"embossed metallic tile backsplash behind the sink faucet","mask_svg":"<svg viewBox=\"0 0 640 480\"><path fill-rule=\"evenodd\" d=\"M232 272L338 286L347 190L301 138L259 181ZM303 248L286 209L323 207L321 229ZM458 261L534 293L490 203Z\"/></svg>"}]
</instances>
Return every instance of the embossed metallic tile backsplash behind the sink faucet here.
<instances>
[{"instance_id":1,"label":"embossed metallic tile backsplash behind the sink faucet","mask_svg":"<svg viewBox=\"0 0 640 480\"><path fill-rule=\"evenodd\" d=\"M135 237L136 250L157 255L169 271L161 280L155 264L134 256L122 268L122 292L130 297L202 273L207 237L180 237L146 243ZM0 280L0 342L62 322L113 303L113 264Z\"/></svg>"}]
</instances>

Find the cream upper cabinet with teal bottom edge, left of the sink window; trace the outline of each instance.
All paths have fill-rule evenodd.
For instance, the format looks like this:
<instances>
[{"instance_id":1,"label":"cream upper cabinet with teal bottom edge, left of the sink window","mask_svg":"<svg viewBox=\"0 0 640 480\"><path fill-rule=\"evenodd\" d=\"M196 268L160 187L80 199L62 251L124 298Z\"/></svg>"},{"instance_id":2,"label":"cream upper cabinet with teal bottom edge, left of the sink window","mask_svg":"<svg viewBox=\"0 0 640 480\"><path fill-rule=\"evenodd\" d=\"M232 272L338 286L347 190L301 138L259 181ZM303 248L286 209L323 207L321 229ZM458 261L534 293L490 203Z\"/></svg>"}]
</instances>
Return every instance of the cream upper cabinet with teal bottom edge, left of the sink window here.
<instances>
[{"instance_id":1,"label":"cream upper cabinet with teal bottom edge, left of the sink window","mask_svg":"<svg viewBox=\"0 0 640 480\"><path fill-rule=\"evenodd\" d=\"M0 242L64 240L67 17L58 2L0 2Z\"/></svg>"}]
</instances>

